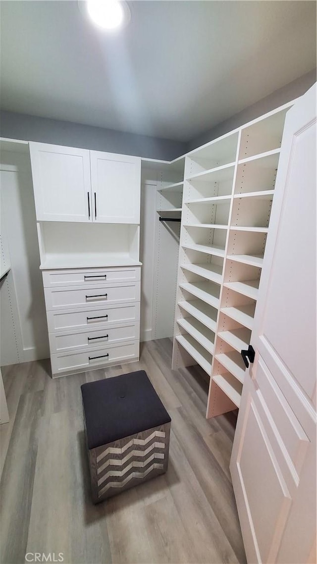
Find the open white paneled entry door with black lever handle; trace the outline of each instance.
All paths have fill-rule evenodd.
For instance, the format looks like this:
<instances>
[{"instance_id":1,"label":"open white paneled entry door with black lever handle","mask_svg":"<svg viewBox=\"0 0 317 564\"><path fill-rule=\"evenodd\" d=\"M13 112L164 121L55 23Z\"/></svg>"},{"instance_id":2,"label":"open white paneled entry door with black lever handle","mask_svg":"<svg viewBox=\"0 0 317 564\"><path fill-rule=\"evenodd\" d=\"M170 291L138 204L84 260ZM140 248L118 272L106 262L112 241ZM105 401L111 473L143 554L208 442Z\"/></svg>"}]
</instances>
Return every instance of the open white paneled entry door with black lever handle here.
<instances>
[{"instance_id":1,"label":"open white paneled entry door with black lever handle","mask_svg":"<svg viewBox=\"0 0 317 564\"><path fill-rule=\"evenodd\" d=\"M249 563L316 562L316 88L289 110L231 457Z\"/></svg>"}]
</instances>

